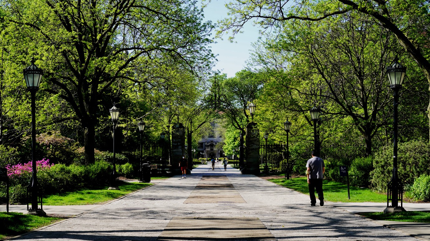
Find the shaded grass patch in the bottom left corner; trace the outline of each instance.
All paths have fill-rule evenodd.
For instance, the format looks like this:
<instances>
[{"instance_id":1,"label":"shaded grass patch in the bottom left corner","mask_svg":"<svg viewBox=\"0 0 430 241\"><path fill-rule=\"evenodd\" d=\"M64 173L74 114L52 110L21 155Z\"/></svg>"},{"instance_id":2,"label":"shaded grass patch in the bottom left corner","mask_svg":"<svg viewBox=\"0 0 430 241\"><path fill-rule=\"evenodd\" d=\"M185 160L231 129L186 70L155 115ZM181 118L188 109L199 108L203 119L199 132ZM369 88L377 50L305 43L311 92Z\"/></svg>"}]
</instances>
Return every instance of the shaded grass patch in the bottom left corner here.
<instances>
[{"instance_id":1,"label":"shaded grass patch in the bottom left corner","mask_svg":"<svg viewBox=\"0 0 430 241\"><path fill-rule=\"evenodd\" d=\"M0 239L17 236L55 223L61 219L58 217L40 217L30 214L0 212Z\"/></svg>"}]
</instances>

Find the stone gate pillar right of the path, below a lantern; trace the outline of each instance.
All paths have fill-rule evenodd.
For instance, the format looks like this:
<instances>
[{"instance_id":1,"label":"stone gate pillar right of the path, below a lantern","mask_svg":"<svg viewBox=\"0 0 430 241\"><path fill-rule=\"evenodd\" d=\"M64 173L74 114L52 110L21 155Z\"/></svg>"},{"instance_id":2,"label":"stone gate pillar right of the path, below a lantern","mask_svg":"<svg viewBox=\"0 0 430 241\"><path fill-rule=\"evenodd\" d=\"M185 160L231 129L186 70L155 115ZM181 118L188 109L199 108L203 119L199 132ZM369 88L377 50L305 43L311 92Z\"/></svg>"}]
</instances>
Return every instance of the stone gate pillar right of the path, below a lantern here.
<instances>
[{"instance_id":1,"label":"stone gate pillar right of the path, below a lantern","mask_svg":"<svg viewBox=\"0 0 430 241\"><path fill-rule=\"evenodd\" d=\"M260 173L260 131L257 123L246 126L246 174Z\"/></svg>"}]
</instances>

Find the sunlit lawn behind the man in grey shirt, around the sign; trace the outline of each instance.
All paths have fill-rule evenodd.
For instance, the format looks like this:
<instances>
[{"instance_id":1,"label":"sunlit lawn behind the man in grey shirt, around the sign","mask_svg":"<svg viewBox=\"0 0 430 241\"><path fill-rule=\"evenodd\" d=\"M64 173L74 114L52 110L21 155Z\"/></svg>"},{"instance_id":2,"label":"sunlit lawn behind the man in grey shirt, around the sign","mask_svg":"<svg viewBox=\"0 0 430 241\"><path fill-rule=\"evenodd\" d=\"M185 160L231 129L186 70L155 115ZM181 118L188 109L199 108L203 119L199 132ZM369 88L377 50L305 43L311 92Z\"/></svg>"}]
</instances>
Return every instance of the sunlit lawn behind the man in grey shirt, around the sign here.
<instances>
[{"instance_id":1,"label":"sunlit lawn behind the man in grey shirt, around the sign","mask_svg":"<svg viewBox=\"0 0 430 241\"><path fill-rule=\"evenodd\" d=\"M309 194L306 178L293 178L292 180L269 179L268 181L291 188L298 192ZM375 193L369 188L350 187L348 199L347 185L335 181L322 181L324 200L331 202L387 202L387 195ZM316 194L315 194L316 195Z\"/></svg>"}]
</instances>

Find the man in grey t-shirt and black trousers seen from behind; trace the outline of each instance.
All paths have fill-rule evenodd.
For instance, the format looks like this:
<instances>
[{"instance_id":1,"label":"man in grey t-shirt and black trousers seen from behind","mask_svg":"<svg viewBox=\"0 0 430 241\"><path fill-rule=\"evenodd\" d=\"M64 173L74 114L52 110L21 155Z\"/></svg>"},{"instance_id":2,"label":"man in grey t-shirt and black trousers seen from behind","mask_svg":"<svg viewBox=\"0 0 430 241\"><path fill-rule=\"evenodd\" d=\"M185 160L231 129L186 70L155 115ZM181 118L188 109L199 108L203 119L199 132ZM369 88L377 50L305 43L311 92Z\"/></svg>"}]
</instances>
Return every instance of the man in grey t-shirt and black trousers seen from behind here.
<instances>
[{"instance_id":1,"label":"man in grey t-shirt and black trousers seen from behind","mask_svg":"<svg viewBox=\"0 0 430 241\"><path fill-rule=\"evenodd\" d=\"M307 184L309 186L309 196L310 196L310 205L315 206L316 198L315 198L315 190L318 193L319 205L324 206L324 194L322 193L322 176L324 172L326 172L326 165L324 165L324 161L314 156L314 152L312 152L312 158L307 160L306 163L306 176L307 176Z\"/></svg>"}]
</instances>

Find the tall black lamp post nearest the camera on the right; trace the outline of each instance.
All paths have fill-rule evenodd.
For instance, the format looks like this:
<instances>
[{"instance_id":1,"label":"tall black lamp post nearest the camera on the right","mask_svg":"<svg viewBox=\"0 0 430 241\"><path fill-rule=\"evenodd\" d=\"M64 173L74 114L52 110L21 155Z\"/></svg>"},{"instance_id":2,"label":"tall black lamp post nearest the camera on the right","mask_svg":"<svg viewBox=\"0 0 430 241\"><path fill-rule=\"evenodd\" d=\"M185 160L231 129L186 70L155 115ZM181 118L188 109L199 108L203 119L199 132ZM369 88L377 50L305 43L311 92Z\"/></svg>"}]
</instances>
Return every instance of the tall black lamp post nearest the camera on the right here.
<instances>
[{"instance_id":1,"label":"tall black lamp post nearest the camera on the right","mask_svg":"<svg viewBox=\"0 0 430 241\"><path fill-rule=\"evenodd\" d=\"M387 185L387 212L405 211L403 208L403 190L400 180L397 177L397 112L399 102L399 91L402 88L403 78L405 78L406 67L399 64L398 59L395 58L393 64L387 67L388 80L390 81L390 88L393 90L394 96L394 118L393 118L393 177ZM391 199L390 199L391 197ZM391 206L389 205L391 200ZM400 200L400 206L399 206Z\"/></svg>"}]
</instances>

